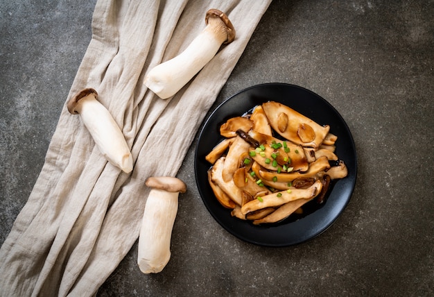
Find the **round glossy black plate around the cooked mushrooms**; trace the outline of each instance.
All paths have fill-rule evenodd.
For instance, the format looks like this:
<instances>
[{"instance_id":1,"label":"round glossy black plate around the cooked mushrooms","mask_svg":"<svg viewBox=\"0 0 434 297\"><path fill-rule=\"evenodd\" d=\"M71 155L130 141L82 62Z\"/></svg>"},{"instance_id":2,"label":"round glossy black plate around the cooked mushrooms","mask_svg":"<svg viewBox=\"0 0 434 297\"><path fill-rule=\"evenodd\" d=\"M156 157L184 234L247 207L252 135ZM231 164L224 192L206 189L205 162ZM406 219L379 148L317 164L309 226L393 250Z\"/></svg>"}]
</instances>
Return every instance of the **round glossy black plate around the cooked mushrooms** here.
<instances>
[{"instance_id":1,"label":"round glossy black plate around the cooked mushrooms","mask_svg":"<svg viewBox=\"0 0 434 297\"><path fill-rule=\"evenodd\" d=\"M218 203L207 180L211 164L205 160L213 148L223 140L220 125L231 117L241 116L266 101L277 101L310 117L318 124L330 125L330 132L338 136L336 155L348 168L348 176L333 180L327 200L318 204L306 203L304 214L291 215L280 223L255 226L249 221L231 217L230 210ZM211 113L200 132L195 155L196 183L200 196L211 215L232 235L259 246L291 246L312 239L336 221L347 206L356 184L357 158L354 140L344 119L333 106L317 94L296 85L268 83L255 85L238 92Z\"/></svg>"}]
</instances>

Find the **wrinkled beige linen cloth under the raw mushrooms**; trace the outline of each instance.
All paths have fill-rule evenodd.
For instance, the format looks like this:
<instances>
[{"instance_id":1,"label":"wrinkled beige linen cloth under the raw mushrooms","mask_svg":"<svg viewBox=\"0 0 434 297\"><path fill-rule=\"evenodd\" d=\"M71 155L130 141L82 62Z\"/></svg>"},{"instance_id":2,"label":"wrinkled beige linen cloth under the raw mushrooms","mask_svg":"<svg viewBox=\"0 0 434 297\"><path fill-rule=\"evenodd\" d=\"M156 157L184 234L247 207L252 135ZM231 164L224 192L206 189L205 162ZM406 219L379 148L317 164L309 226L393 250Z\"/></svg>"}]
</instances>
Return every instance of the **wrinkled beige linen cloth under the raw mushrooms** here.
<instances>
[{"instance_id":1,"label":"wrinkled beige linen cloth under the raw mushrooms","mask_svg":"<svg viewBox=\"0 0 434 297\"><path fill-rule=\"evenodd\" d=\"M0 249L0 296L92 296L139 236L149 176L175 176L271 0L98 0L67 100L93 87L123 130L134 170L109 164L64 107L28 202ZM143 85L153 66L227 13L236 39L171 99ZM158 153L154 153L158 152ZM138 269L138 268L137 268Z\"/></svg>"}]
</instances>

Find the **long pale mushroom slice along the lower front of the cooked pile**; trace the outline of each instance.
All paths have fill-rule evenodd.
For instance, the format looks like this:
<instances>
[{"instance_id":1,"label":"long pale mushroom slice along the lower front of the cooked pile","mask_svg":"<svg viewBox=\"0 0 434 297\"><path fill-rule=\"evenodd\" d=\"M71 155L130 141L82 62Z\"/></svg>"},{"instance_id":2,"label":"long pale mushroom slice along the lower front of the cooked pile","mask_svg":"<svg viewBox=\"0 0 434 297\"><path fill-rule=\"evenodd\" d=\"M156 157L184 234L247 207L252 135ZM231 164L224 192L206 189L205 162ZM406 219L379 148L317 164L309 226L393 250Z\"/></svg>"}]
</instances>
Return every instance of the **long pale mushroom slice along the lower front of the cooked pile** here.
<instances>
[{"instance_id":1,"label":"long pale mushroom slice along the lower front of the cooked pile","mask_svg":"<svg viewBox=\"0 0 434 297\"><path fill-rule=\"evenodd\" d=\"M253 212L255 210L261 210L266 207L278 207L284 205L290 201L297 199L312 198L318 195L322 183L320 180L315 182L308 189L288 189L286 191L276 192L268 194L261 197L261 199L254 199L241 207L241 212L247 214L248 212Z\"/></svg>"}]
</instances>

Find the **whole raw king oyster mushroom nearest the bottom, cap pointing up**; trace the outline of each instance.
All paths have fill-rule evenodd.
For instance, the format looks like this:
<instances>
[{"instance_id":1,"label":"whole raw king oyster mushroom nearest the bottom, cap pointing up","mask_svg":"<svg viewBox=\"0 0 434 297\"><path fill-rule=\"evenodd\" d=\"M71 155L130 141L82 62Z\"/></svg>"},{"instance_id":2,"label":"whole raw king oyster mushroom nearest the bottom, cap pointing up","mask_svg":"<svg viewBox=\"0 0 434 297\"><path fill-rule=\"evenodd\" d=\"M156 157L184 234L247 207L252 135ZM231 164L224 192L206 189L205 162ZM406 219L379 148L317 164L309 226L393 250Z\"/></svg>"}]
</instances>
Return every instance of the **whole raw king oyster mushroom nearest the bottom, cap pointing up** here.
<instances>
[{"instance_id":1,"label":"whole raw king oyster mushroom nearest the bottom, cap pointing up","mask_svg":"<svg viewBox=\"0 0 434 297\"><path fill-rule=\"evenodd\" d=\"M148 178L146 185L152 189L141 221L137 264L142 273L159 273L171 258L178 195L186 192L186 185L172 177Z\"/></svg>"}]
</instances>

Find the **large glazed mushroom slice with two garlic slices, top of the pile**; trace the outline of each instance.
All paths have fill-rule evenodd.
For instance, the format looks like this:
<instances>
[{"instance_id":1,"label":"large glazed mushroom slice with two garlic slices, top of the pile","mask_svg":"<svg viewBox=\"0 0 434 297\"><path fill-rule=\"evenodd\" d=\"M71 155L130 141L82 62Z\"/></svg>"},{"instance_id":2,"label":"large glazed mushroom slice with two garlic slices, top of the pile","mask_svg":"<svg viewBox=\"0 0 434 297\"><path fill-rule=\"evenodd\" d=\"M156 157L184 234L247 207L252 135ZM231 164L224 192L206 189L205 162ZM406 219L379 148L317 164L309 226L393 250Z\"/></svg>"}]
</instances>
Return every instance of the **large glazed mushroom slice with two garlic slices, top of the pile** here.
<instances>
[{"instance_id":1,"label":"large glazed mushroom slice with two garlic slices, top of the pile","mask_svg":"<svg viewBox=\"0 0 434 297\"><path fill-rule=\"evenodd\" d=\"M268 117L271 127L282 137L285 137L295 144L318 148L327 133L329 133L330 126L320 126L320 124L305 117L303 114L300 114L300 112L281 103L269 101L263 103L262 108ZM299 135L300 125L304 125L304 131L300 133L303 139L300 138ZM315 134L313 140L304 142L311 138L312 132Z\"/></svg>"}]
</instances>

